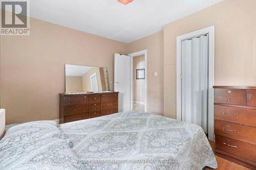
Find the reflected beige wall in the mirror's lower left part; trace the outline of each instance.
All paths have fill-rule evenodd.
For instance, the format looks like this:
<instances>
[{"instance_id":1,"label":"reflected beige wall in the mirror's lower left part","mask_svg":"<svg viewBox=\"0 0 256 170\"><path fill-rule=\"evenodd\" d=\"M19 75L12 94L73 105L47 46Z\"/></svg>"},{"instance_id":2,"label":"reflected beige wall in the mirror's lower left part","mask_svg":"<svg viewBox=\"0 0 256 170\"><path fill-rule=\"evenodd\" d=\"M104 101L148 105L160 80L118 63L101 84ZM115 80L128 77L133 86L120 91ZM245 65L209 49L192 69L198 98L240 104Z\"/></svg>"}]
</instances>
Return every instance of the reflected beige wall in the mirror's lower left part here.
<instances>
[{"instance_id":1,"label":"reflected beige wall in the mirror's lower left part","mask_svg":"<svg viewBox=\"0 0 256 170\"><path fill-rule=\"evenodd\" d=\"M82 77L66 76L66 92L82 92Z\"/></svg>"}]
</instances>

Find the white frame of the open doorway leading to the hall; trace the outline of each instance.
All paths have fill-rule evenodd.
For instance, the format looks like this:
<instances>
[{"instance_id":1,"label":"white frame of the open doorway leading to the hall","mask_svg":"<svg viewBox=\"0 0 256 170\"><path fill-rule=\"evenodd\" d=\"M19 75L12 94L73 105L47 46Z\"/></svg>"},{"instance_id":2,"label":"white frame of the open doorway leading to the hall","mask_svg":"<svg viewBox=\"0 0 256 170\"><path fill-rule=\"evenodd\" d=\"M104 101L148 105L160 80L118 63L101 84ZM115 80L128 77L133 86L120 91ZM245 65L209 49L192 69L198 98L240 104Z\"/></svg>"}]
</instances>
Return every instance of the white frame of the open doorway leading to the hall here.
<instances>
[{"instance_id":1,"label":"white frame of the open doorway leading to the hall","mask_svg":"<svg viewBox=\"0 0 256 170\"><path fill-rule=\"evenodd\" d=\"M131 110L133 110L133 57L145 56L145 101L144 101L144 112L147 112L147 50L131 53L128 56L131 57Z\"/></svg>"}]
</instances>

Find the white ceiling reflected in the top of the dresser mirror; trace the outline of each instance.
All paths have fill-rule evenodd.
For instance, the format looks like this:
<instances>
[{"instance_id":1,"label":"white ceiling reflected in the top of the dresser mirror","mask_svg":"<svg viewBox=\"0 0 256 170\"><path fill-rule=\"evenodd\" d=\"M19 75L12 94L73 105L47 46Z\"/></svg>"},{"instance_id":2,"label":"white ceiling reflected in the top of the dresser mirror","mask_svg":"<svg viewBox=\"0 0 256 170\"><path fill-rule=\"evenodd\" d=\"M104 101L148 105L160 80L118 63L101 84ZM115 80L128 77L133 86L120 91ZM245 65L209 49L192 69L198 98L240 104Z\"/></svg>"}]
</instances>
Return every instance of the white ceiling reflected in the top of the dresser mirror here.
<instances>
[{"instance_id":1,"label":"white ceiling reflected in the top of the dresser mirror","mask_svg":"<svg viewBox=\"0 0 256 170\"><path fill-rule=\"evenodd\" d=\"M81 77L91 68L90 66L66 64L65 76Z\"/></svg>"}]
</instances>

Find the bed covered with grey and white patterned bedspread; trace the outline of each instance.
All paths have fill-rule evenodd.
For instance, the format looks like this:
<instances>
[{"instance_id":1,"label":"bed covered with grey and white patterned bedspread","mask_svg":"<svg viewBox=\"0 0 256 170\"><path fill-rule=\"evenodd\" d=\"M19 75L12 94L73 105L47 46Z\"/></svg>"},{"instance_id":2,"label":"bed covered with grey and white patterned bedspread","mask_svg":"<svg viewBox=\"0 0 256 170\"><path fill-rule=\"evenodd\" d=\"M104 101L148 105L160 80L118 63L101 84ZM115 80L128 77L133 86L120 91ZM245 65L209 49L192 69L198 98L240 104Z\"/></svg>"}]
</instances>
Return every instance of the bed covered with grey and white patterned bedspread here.
<instances>
[{"instance_id":1,"label":"bed covered with grey and white patterned bedspread","mask_svg":"<svg viewBox=\"0 0 256 170\"><path fill-rule=\"evenodd\" d=\"M57 125L16 125L0 140L0 169L217 168L201 127L128 111Z\"/></svg>"}]
</instances>

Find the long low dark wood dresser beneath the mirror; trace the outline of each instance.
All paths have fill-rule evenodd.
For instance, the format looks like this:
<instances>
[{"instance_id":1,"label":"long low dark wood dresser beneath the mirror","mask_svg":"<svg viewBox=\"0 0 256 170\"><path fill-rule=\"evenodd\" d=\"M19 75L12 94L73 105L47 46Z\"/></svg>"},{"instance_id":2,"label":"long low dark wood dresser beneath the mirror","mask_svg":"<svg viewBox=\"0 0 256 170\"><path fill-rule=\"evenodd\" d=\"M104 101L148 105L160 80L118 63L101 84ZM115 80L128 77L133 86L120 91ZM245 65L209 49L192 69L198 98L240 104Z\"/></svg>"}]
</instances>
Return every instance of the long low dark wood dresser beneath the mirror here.
<instances>
[{"instance_id":1,"label":"long low dark wood dresser beneath the mirror","mask_svg":"<svg viewBox=\"0 0 256 170\"><path fill-rule=\"evenodd\" d=\"M118 92L59 94L59 123L118 112Z\"/></svg>"}]
</instances>

